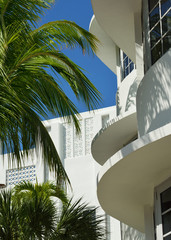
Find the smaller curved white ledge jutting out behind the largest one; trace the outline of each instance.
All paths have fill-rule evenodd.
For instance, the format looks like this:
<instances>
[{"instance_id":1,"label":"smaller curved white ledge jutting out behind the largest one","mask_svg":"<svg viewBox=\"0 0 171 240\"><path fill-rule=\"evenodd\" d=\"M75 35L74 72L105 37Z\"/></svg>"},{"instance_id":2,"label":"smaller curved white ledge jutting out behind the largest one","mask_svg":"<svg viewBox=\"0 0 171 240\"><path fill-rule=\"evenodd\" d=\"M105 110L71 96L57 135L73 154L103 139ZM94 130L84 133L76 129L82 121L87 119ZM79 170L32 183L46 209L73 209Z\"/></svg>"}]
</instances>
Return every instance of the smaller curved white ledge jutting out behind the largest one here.
<instances>
[{"instance_id":1,"label":"smaller curved white ledge jutting out behind the largest one","mask_svg":"<svg viewBox=\"0 0 171 240\"><path fill-rule=\"evenodd\" d=\"M91 152L101 165L137 134L136 112L126 112L110 120L94 137Z\"/></svg>"}]
</instances>

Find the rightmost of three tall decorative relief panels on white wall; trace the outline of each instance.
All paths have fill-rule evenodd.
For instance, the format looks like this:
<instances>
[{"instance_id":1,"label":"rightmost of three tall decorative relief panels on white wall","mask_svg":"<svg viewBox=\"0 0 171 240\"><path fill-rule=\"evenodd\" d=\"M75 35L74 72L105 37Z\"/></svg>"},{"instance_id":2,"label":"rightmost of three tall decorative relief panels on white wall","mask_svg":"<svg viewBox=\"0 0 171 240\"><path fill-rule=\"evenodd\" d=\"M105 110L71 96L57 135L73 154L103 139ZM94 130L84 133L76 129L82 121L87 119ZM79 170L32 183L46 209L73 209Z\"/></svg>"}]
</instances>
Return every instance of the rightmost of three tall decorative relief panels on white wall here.
<instances>
[{"instance_id":1,"label":"rightmost of three tall decorative relief panels on white wall","mask_svg":"<svg viewBox=\"0 0 171 240\"><path fill-rule=\"evenodd\" d=\"M93 118L85 119L85 154L91 152L91 142L93 139Z\"/></svg>"}]
</instances>

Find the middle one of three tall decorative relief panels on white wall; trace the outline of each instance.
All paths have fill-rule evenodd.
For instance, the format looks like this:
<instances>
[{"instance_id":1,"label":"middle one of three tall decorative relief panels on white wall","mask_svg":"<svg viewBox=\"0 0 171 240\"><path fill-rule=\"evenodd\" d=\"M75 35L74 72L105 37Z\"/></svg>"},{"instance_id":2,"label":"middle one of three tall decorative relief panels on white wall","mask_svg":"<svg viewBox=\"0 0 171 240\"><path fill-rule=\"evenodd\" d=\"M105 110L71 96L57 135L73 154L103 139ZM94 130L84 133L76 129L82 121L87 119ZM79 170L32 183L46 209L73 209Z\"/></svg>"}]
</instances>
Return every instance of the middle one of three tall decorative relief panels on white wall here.
<instances>
[{"instance_id":1,"label":"middle one of three tall decorative relief panels on white wall","mask_svg":"<svg viewBox=\"0 0 171 240\"><path fill-rule=\"evenodd\" d=\"M83 121L80 120L80 130L79 134L76 134L74 127L74 157L83 155Z\"/></svg>"}]
</instances>

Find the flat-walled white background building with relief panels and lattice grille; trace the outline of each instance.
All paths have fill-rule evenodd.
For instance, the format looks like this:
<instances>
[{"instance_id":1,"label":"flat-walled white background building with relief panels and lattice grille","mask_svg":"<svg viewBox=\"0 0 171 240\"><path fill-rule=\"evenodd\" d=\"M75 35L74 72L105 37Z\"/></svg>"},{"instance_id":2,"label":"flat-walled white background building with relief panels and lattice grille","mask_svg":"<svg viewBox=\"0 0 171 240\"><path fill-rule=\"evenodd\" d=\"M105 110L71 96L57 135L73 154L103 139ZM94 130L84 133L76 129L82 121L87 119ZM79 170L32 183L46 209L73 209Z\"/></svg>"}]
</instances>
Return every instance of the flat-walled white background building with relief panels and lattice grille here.
<instances>
[{"instance_id":1,"label":"flat-walled white background building with relief panels and lattice grille","mask_svg":"<svg viewBox=\"0 0 171 240\"><path fill-rule=\"evenodd\" d=\"M71 181L72 191L68 194L75 200L82 197L82 201L92 207L99 207L97 200L97 173L100 165L91 155L91 142L95 134L105 126L106 122L116 116L116 108L108 107L80 114L81 134L76 135L73 123L67 123L63 118L44 121L44 124L58 150L65 170ZM28 159L21 168L8 162L8 155L0 156L0 184L13 187L25 180L33 183L55 180L55 176L44 164L40 154L30 150ZM102 209L99 214L104 215ZM106 239L120 239L120 222L106 216L107 236ZM112 226L112 227L111 227ZM115 236L115 237L114 237Z\"/></svg>"}]
</instances>

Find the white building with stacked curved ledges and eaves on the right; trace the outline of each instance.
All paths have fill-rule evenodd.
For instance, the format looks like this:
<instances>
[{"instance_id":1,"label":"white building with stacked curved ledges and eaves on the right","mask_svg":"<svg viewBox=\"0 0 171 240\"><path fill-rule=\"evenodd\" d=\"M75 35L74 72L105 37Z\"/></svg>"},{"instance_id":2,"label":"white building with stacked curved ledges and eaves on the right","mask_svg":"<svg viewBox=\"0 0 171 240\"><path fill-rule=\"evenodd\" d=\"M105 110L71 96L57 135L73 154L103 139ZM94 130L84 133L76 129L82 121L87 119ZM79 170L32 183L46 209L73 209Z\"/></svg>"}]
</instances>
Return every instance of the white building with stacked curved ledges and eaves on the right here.
<instances>
[{"instance_id":1,"label":"white building with stacked curved ledges and eaves on the right","mask_svg":"<svg viewBox=\"0 0 171 240\"><path fill-rule=\"evenodd\" d=\"M147 240L171 240L171 1L91 2L97 56L118 81L117 117L92 142L98 200Z\"/></svg>"}]
</instances>

